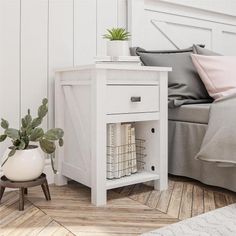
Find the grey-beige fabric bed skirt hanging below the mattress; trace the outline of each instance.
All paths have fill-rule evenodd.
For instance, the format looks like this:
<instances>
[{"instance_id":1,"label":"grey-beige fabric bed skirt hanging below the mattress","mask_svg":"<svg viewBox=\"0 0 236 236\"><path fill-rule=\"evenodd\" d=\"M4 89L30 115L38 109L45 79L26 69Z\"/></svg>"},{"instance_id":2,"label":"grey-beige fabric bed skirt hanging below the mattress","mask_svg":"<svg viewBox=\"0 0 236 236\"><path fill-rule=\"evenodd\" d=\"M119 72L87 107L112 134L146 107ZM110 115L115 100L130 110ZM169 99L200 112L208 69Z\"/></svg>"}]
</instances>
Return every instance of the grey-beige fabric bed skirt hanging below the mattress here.
<instances>
[{"instance_id":1,"label":"grey-beige fabric bed skirt hanging below the mattress","mask_svg":"<svg viewBox=\"0 0 236 236\"><path fill-rule=\"evenodd\" d=\"M169 121L169 173L236 192L236 168L195 160L206 124Z\"/></svg>"}]
</instances>

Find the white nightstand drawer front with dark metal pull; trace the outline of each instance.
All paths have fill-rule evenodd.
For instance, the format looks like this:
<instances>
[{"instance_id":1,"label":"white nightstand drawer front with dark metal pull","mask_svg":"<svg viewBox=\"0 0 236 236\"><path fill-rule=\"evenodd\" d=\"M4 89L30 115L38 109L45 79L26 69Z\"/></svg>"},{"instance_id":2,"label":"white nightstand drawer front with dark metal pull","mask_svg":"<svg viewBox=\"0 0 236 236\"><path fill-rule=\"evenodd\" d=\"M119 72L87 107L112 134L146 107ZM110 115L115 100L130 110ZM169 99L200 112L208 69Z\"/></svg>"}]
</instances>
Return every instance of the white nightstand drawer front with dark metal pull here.
<instances>
[{"instance_id":1,"label":"white nightstand drawer front with dark metal pull","mask_svg":"<svg viewBox=\"0 0 236 236\"><path fill-rule=\"evenodd\" d=\"M109 85L107 114L159 111L158 85Z\"/></svg>"}]
</instances>

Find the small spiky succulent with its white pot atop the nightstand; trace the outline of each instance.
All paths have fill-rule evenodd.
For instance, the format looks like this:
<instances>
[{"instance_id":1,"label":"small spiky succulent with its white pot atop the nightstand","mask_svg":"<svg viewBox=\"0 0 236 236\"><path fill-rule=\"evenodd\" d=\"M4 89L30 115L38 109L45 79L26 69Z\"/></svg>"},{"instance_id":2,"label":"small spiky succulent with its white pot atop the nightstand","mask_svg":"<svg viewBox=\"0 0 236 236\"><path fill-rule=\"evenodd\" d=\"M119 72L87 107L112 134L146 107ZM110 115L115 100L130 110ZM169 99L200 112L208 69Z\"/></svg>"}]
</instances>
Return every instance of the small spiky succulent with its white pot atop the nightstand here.
<instances>
[{"instance_id":1,"label":"small spiky succulent with its white pot atop the nightstand","mask_svg":"<svg viewBox=\"0 0 236 236\"><path fill-rule=\"evenodd\" d=\"M107 29L107 34L103 38L107 41L108 56L129 56L129 37L130 33L123 28Z\"/></svg>"}]
</instances>

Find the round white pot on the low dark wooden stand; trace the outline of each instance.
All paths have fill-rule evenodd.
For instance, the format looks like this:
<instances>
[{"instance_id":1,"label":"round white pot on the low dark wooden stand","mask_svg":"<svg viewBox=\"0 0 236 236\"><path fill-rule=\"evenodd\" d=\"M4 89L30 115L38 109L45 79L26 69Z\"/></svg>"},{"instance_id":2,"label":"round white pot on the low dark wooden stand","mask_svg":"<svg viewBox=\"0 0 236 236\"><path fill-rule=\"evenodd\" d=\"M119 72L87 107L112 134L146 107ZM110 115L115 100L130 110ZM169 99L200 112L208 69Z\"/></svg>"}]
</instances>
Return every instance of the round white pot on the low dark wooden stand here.
<instances>
[{"instance_id":1,"label":"round white pot on the low dark wooden stand","mask_svg":"<svg viewBox=\"0 0 236 236\"><path fill-rule=\"evenodd\" d=\"M8 148L3 156L7 158L10 149ZM3 174L12 181L30 181L38 178L44 169L45 158L39 151L38 146L31 146L30 149L17 150L2 167Z\"/></svg>"}]
</instances>

